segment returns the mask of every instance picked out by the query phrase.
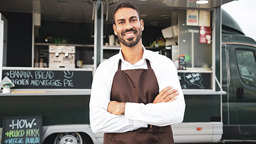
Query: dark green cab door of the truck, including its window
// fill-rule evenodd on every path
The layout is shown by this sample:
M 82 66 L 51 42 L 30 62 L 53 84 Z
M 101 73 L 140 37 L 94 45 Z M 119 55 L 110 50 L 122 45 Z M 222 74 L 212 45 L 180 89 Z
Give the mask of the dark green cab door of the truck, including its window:
M 231 88 L 229 94 L 233 95 L 234 102 L 230 102 L 234 104 L 234 109 L 230 109 L 230 124 L 238 125 L 241 139 L 255 139 L 256 47 L 249 45 L 229 47 Z

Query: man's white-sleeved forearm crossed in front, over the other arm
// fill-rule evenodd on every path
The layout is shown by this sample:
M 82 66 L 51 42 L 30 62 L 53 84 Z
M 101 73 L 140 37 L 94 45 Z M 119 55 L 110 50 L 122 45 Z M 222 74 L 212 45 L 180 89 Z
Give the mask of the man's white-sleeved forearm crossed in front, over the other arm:
M 130 103 L 125 105 L 125 117 L 135 121 L 156 126 L 181 123 L 185 110 L 185 102 L 180 97 L 172 102 Z

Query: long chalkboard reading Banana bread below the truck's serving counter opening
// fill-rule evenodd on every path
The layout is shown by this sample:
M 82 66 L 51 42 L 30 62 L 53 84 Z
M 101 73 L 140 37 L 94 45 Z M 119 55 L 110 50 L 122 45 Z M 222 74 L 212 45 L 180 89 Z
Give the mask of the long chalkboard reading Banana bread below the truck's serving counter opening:
M 92 71 L 3 70 L 14 89 L 91 89 Z

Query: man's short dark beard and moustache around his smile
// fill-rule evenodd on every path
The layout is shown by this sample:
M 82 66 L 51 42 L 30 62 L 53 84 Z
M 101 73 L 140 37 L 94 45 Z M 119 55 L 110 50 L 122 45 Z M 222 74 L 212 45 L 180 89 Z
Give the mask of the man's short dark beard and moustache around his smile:
M 135 34 L 135 36 L 134 37 L 131 37 L 131 38 L 127 38 L 127 40 L 124 38 L 124 33 L 127 33 L 127 32 L 129 32 L 129 31 L 133 31 Z M 124 30 L 123 32 L 122 32 L 122 34 L 120 34 L 120 33 L 117 33 L 117 37 L 118 37 L 118 39 L 119 39 L 119 41 L 123 44 L 123 45 L 125 45 L 125 46 L 127 46 L 127 47 L 132 47 L 132 46 L 134 46 L 134 45 L 137 45 L 138 44 L 138 42 L 140 41 L 140 39 L 141 39 L 141 36 L 142 36 L 142 30 L 141 30 L 141 28 L 139 28 L 139 31 L 137 31 L 136 29 L 134 29 L 134 28 L 131 28 L 131 29 L 129 29 L 129 30 Z

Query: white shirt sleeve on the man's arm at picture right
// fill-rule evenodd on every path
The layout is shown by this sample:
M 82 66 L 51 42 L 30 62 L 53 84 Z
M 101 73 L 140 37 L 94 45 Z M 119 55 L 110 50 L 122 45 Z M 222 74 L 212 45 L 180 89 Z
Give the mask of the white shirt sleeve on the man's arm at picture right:
M 161 103 L 131 103 L 126 102 L 125 117 L 131 120 L 142 121 L 151 125 L 165 126 L 178 124 L 183 121 L 185 113 L 185 100 L 180 86 L 177 69 L 170 59 L 165 59 L 158 67 L 159 91 L 167 86 L 178 89 L 178 99 L 172 102 Z

